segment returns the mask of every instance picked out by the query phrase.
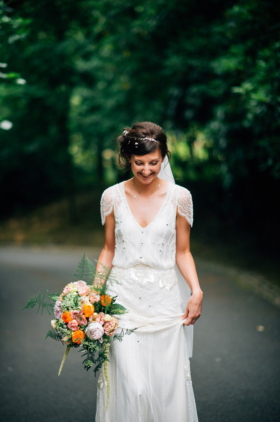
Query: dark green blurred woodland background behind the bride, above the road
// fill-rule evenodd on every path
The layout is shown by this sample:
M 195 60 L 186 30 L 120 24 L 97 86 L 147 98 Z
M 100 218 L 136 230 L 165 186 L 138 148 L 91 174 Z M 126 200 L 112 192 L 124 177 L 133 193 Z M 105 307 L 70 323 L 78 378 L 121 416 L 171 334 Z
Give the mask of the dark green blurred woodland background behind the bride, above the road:
M 192 192 L 197 252 L 278 279 L 277 2 L 0 5 L 0 241 L 101 243 L 101 192 L 128 177 L 114 140 L 147 120 Z

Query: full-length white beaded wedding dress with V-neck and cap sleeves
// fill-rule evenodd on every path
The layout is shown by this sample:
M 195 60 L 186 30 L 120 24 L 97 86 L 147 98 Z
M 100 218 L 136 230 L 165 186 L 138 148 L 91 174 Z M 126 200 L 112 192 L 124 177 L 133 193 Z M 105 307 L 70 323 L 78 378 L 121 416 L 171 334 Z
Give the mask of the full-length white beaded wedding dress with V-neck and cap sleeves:
M 169 183 L 160 211 L 143 228 L 130 211 L 122 182 L 102 195 L 102 224 L 113 208 L 116 246 L 108 291 L 129 310 L 120 316 L 118 330 L 140 328 L 111 343 L 109 407 L 106 411 L 101 371 L 96 422 L 197 422 L 174 270 L 176 208 L 192 225 L 192 197 L 187 189 Z

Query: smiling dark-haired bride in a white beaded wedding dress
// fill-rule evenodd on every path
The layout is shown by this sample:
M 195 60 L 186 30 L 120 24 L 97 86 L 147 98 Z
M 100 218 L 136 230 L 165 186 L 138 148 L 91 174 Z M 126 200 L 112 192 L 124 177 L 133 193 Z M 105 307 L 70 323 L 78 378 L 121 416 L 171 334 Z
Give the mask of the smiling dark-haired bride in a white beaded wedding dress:
M 200 317 L 203 296 L 189 250 L 192 197 L 187 189 L 158 177 L 170 156 L 160 126 L 136 123 L 117 140 L 119 160 L 131 166 L 133 178 L 102 195 L 105 243 L 99 262 L 112 268 L 108 294 L 117 295 L 129 310 L 120 317 L 119 329 L 139 328 L 110 346 L 109 408 L 101 372 L 96 421 L 195 422 L 183 329 Z M 175 259 L 192 291 L 185 312 Z

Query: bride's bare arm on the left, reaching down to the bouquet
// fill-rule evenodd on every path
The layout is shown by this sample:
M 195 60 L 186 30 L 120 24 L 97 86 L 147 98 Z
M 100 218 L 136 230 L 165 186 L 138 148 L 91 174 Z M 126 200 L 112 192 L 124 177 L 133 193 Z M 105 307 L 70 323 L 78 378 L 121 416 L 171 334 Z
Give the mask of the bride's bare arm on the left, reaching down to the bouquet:
M 96 265 L 96 273 L 99 273 L 99 271 L 102 272 L 103 268 L 102 265 L 105 265 L 105 267 L 112 268 L 112 261 L 115 254 L 115 216 L 114 211 L 112 211 L 111 214 L 107 215 L 105 220 L 105 241 L 104 246 L 101 251 L 101 254 L 99 255 L 98 262 Z M 99 262 L 101 264 L 99 264 Z M 102 280 L 102 283 L 105 283 L 105 279 Z

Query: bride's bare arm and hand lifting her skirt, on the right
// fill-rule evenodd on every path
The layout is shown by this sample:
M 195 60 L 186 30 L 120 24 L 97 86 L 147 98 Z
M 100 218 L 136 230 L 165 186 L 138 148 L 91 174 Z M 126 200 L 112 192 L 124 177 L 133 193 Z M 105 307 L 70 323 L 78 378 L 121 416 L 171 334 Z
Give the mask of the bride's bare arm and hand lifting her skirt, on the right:
M 194 324 L 202 310 L 203 292 L 200 289 L 195 262 L 189 247 L 190 225 L 184 216 L 177 213 L 176 217 L 176 263 L 182 276 L 192 291 L 183 319 L 185 325 Z

